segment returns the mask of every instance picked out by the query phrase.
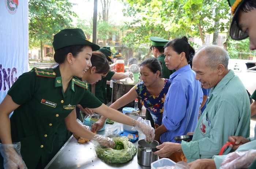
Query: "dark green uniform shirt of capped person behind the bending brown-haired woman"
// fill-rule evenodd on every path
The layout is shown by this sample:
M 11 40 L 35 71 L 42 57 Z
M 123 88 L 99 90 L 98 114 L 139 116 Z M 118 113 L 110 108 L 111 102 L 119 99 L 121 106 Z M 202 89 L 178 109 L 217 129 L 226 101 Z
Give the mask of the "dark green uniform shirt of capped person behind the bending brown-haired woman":
M 107 82 L 107 80 L 111 80 L 111 78 L 113 77 L 114 74 L 115 74 L 115 72 L 109 71 L 108 74 L 104 78 L 102 78 L 95 84 L 95 96 L 104 104 L 108 103 L 106 82 Z M 90 84 L 88 86 L 88 89 L 91 90 Z

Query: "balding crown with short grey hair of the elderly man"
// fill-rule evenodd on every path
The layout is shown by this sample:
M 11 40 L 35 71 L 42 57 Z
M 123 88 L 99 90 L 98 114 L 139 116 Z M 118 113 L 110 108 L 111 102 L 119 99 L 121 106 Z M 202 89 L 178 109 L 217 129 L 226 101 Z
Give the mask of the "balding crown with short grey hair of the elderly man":
M 216 68 L 218 64 L 223 64 L 225 69 L 227 69 L 227 65 L 229 64 L 229 54 L 227 54 L 227 51 L 216 45 L 205 45 L 200 47 L 196 51 L 194 59 L 205 60 L 205 66 L 212 69 Z

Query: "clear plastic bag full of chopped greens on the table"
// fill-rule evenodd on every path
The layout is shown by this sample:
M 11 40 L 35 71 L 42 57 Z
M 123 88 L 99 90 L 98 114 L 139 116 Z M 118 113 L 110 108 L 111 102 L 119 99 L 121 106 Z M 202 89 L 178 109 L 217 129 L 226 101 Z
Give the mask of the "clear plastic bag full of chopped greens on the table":
M 109 163 L 125 163 L 133 158 L 137 152 L 137 148 L 127 137 L 113 137 L 116 146 L 114 149 L 94 145 L 99 159 Z

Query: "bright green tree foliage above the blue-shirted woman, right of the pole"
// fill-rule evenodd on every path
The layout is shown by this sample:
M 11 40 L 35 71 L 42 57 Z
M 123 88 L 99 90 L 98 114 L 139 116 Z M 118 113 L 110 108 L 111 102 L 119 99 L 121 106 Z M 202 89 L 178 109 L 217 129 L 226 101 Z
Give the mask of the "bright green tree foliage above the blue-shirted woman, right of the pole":
M 137 45 L 149 42 L 149 36 L 161 36 L 166 39 L 182 36 L 200 37 L 216 29 L 227 30 L 230 16 L 226 0 L 123 0 L 129 5 L 125 15 L 135 17 L 127 28 L 132 29 L 126 39 L 135 39 Z M 214 25 L 215 21 L 219 24 Z M 214 27 L 215 26 L 215 27 Z M 128 44 L 129 45 L 129 44 Z

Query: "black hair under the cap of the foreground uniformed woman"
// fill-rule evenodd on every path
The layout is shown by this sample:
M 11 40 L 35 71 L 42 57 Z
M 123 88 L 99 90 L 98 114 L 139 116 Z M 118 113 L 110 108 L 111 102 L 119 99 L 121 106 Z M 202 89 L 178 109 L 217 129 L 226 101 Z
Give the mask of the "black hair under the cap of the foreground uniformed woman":
M 82 52 L 86 45 L 74 45 L 74 46 L 67 46 L 64 48 L 60 48 L 54 53 L 54 60 L 56 63 L 64 63 L 67 54 L 71 53 L 74 57 L 76 57 L 79 52 Z

